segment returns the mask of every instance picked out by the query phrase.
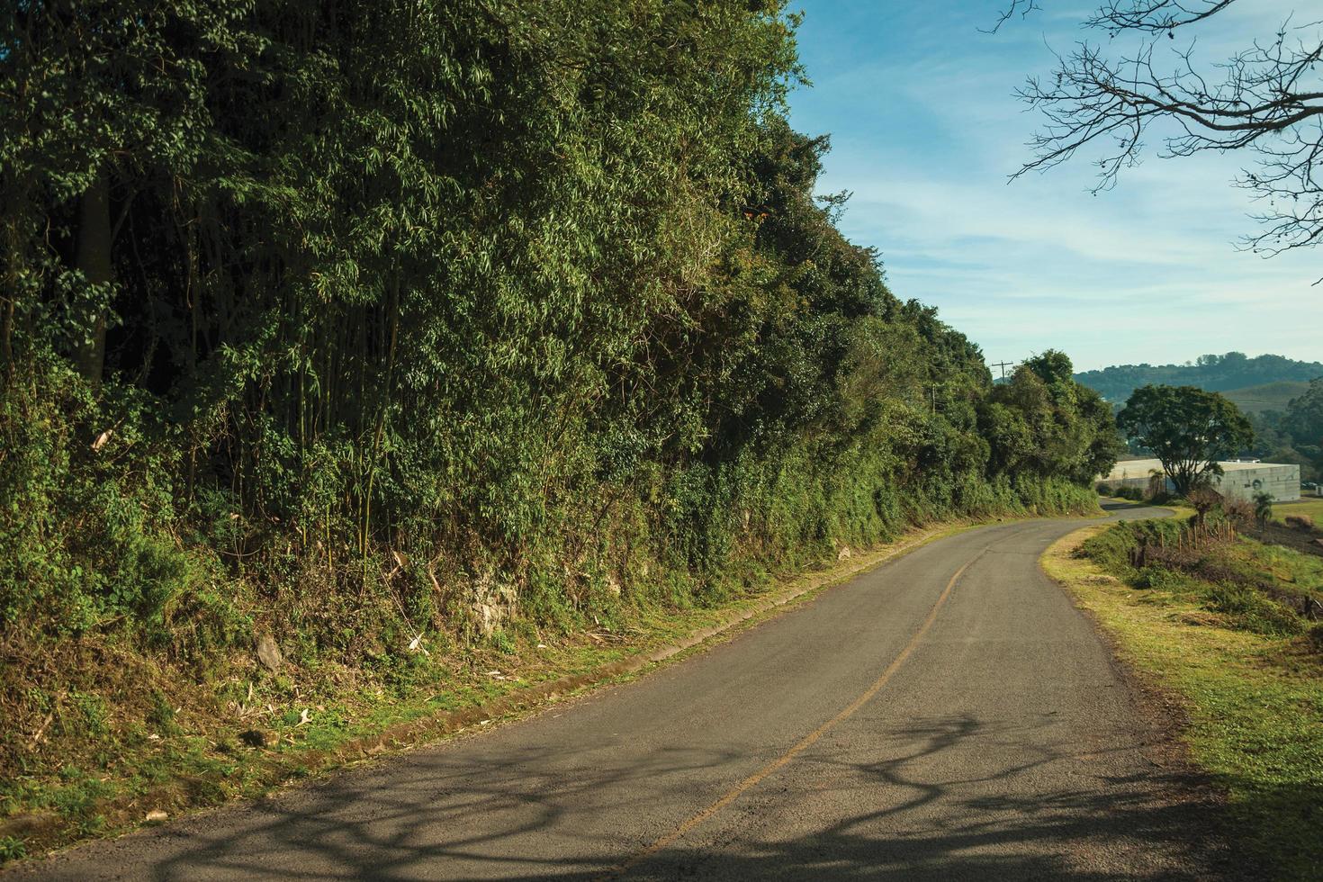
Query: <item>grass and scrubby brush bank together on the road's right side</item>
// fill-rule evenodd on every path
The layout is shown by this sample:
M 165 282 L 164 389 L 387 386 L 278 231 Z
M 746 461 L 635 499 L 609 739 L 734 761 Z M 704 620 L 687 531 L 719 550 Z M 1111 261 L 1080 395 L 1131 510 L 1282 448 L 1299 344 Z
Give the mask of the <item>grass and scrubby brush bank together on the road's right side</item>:
M 1044 566 L 1122 659 L 1177 698 L 1191 758 L 1226 792 L 1246 862 L 1315 879 L 1323 558 L 1246 538 L 1253 509 L 1229 509 L 1090 528 L 1053 546 Z

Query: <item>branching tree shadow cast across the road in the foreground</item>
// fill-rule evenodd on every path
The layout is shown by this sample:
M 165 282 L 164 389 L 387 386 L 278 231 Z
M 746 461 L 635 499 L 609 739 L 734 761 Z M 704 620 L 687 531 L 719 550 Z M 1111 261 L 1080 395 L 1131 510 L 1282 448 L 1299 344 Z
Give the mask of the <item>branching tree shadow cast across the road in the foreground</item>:
M 1044 788 L 1035 782 L 1049 772 L 1053 780 L 1062 778 L 1062 763 L 1073 768 L 1070 763 L 1098 756 L 1045 750 L 1033 729 L 934 718 L 889 731 L 886 738 L 906 748 L 885 758 L 861 760 L 848 750 L 803 755 L 673 845 L 628 867 L 622 863 L 738 780 L 734 774 L 714 776 L 713 768 L 742 770 L 750 759 L 755 766 L 766 759 L 683 747 L 619 766 L 573 746 L 415 754 L 242 812 L 159 830 L 156 837 L 167 840 L 172 854 L 130 874 L 157 879 L 1253 878 L 1250 871 L 1226 873 L 1220 805 L 1203 780 L 1180 768 L 1151 767 L 1119 776 L 1081 774 L 1076 787 Z M 950 774 L 949 764 L 934 764 L 942 754 L 975 751 L 970 754 L 975 756 L 992 744 L 1013 759 L 960 775 Z M 1130 743 L 1110 750 L 1143 748 Z M 774 755 L 769 748 L 767 759 Z M 841 799 L 847 793 L 852 796 Z M 820 815 L 819 805 L 826 807 Z M 804 812 L 811 816 L 807 821 Z M 102 848 L 114 850 L 127 841 Z

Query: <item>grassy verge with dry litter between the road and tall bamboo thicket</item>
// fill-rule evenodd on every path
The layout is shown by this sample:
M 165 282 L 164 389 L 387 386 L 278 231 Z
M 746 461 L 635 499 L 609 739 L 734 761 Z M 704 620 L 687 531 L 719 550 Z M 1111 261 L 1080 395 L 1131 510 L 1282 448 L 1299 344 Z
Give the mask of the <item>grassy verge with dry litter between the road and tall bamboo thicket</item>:
M 349 670 L 286 665 L 271 673 L 237 657 L 229 682 L 205 684 L 209 694 L 232 696 L 217 705 L 201 701 L 201 689 L 172 688 L 168 676 L 142 660 L 110 657 L 108 644 L 82 645 L 79 656 L 105 653 L 103 665 L 119 665 L 118 688 L 144 692 L 155 710 L 147 726 L 116 726 L 105 698 L 91 692 L 66 696 L 61 706 L 75 710 L 65 710 L 71 719 L 60 725 L 82 726 L 85 750 L 60 766 L 19 770 L 0 782 L 0 862 L 259 796 L 386 751 L 525 717 L 684 657 L 705 641 L 733 636 L 779 608 L 978 524 L 912 530 L 897 542 L 767 582 L 720 607 L 654 607 L 610 628 L 560 637 L 512 628 L 483 644 L 452 645 L 441 665 L 442 680 L 407 694 L 381 685 L 355 689 Z M 50 664 L 93 661 L 62 657 Z

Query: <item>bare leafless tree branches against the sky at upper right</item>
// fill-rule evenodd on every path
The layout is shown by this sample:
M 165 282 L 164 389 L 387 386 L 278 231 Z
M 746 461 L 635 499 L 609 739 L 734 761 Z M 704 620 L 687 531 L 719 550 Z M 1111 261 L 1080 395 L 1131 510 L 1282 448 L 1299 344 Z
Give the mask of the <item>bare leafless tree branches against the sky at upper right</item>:
M 1037 8 L 1037 0 L 1009 3 L 996 28 Z M 1113 57 L 1084 40 L 1057 56 L 1052 77 L 1028 79 L 1017 94 L 1044 124 L 1029 143 L 1033 159 L 1013 177 L 1101 148 L 1095 192 L 1109 189 L 1139 160 L 1150 126 L 1162 124 L 1162 156 L 1256 155 L 1236 181 L 1263 206 L 1246 247 L 1278 254 L 1323 241 L 1323 26 L 1289 17 L 1270 40 L 1196 62 L 1197 25 L 1234 3 L 1103 0 L 1085 26 L 1130 49 Z

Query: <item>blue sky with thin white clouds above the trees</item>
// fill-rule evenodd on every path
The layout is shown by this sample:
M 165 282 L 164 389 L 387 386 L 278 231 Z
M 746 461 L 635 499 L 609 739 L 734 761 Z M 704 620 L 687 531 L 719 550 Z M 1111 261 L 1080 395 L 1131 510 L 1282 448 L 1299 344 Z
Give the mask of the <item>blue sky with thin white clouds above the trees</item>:
M 1270 36 L 1293 7 L 1254 0 L 1199 32 L 1196 58 Z M 1093 4 L 1043 0 L 990 26 L 1000 0 L 800 0 L 812 87 L 791 122 L 831 134 L 822 192 L 881 251 L 892 290 L 938 307 L 990 362 L 1048 348 L 1078 370 L 1232 349 L 1323 360 L 1323 247 L 1270 261 L 1237 250 L 1253 204 L 1230 185 L 1245 155 L 1159 159 L 1156 143 L 1098 196 L 1088 156 L 1008 184 L 1037 118 L 1012 95 L 1085 34 Z M 1095 36 L 1090 36 L 1094 41 Z M 1150 139 L 1152 141 L 1152 139 Z

